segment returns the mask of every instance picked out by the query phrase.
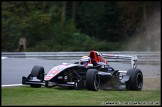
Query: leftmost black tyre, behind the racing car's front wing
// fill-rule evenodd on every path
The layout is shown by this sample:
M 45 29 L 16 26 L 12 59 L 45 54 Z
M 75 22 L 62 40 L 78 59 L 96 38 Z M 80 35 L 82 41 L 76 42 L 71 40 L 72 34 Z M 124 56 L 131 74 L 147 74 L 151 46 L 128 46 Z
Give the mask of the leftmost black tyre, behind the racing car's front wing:
M 32 77 L 37 77 L 37 79 L 44 80 L 44 68 L 42 66 L 35 65 L 31 71 Z

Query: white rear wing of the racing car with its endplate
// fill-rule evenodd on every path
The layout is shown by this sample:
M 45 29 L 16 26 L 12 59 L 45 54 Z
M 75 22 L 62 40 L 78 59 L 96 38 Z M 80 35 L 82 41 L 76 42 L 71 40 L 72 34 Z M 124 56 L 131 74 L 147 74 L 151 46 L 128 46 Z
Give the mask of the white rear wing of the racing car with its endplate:
M 119 55 L 119 54 L 102 54 L 104 58 L 108 59 L 127 59 L 131 60 L 132 68 L 137 68 L 137 56 L 136 55 Z

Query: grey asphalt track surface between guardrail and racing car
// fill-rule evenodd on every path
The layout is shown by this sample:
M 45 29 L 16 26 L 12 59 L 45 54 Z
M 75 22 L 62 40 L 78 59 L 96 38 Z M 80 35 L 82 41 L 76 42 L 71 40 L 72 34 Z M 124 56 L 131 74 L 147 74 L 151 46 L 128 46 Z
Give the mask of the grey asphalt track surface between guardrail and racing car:
M 79 59 L 78 59 L 79 60 Z M 65 63 L 74 63 L 73 60 L 47 60 L 40 58 L 5 58 L 1 59 L 1 85 L 21 84 L 22 76 L 28 76 L 34 65 L 41 65 L 47 73 L 53 66 Z M 113 68 L 128 70 L 130 62 L 109 62 Z M 138 63 L 144 77 L 160 77 L 161 65 L 159 63 Z

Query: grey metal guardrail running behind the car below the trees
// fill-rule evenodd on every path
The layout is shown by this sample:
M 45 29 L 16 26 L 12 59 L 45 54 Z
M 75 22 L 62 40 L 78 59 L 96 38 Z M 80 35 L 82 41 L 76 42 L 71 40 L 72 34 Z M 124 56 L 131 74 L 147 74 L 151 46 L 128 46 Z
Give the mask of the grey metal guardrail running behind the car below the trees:
M 160 52 L 113 51 L 113 52 L 100 52 L 100 53 L 137 55 L 138 61 L 161 62 Z M 88 54 L 89 52 L 2 52 L 1 56 L 9 57 L 9 58 L 78 59 Z M 116 60 L 112 59 L 111 61 L 116 61 Z

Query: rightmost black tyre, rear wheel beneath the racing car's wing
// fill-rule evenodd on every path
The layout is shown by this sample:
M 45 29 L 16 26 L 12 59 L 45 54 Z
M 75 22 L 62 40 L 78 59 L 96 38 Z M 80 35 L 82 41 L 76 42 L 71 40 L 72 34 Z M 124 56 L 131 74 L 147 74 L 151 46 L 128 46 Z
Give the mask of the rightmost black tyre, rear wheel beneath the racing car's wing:
M 129 69 L 127 75 L 130 75 L 130 79 L 126 82 L 126 88 L 128 90 L 142 90 L 143 87 L 143 74 L 140 69 Z

